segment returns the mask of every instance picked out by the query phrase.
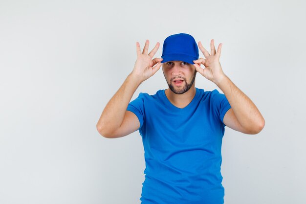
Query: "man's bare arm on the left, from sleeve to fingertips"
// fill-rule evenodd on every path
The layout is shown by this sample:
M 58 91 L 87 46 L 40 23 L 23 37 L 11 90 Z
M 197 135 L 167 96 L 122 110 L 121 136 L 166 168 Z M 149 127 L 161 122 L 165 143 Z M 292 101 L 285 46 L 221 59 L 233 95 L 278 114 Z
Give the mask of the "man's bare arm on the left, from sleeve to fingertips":
M 109 100 L 104 108 L 100 119 L 96 125 L 98 132 L 105 137 L 118 137 L 131 133 L 135 127 L 131 117 L 135 117 L 133 113 L 126 114 L 131 97 L 138 86 L 151 76 L 161 67 L 162 58 L 152 57 L 156 53 L 159 43 L 155 45 L 153 50 L 148 54 L 149 40 L 146 41 L 143 52 L 140 51 L 140 45 L 136 42 L 137 60 L 133 71 L 128 75 L 119 90 Z M 155 67 L 153 67 L 156 65 Z M 123 124 L 123 125 L 122 125 Z

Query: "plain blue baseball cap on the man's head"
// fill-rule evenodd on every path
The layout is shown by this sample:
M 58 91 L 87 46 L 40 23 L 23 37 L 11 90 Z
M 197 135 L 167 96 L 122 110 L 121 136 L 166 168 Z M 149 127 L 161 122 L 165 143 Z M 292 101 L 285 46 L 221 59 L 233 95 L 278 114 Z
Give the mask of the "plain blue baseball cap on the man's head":
M 161 63 L 183 61 L 195 64 L 193 60 L 198 59 L 198 48 L 194 37 L 187 33 L 178 33 L 167 37 L 164 41 L 161 58 L 163 58 Z

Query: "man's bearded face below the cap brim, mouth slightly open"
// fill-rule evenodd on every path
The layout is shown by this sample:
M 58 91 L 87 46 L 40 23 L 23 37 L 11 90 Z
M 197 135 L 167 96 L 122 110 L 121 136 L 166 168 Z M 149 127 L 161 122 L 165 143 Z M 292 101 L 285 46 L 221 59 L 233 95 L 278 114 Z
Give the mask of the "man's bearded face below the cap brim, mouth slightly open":
M 162 65 L 163 73 L 171 91 L 182 94 L 195 82 L 196 67 L 183 61 L 168 61 Z M 179 80 L 182 80 L 179 82 Z

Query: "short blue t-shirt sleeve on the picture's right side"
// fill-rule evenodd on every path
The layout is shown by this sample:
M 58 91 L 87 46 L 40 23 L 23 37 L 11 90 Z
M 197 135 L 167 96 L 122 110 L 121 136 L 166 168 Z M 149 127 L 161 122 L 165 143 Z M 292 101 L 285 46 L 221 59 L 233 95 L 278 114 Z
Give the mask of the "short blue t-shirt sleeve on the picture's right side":
M 231 105 L 229 104 L 227 98 L 225 97 L 225 94 L 220 93 L 217 89 L 212 91 L 212 98 L 214 100 L 216 107 L 215 111 L 219 116 L 219 119 L 222 122 L 223 126 L 225 126 L 225 124 L 223 123 L 223 118 L 225 113 L 231 108 Z

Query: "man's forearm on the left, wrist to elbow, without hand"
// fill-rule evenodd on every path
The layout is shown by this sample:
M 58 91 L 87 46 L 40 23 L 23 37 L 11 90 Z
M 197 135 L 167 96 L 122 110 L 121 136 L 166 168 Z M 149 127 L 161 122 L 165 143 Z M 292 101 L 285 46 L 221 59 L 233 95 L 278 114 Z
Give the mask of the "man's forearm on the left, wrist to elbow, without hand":
M 100 116 L 96 126 L 101 134 L 110 134 L 120 127 L 131 97 L 140 84 L 141 82 L 132 73 L 128 75 L 119 90 L 109 100 Z

